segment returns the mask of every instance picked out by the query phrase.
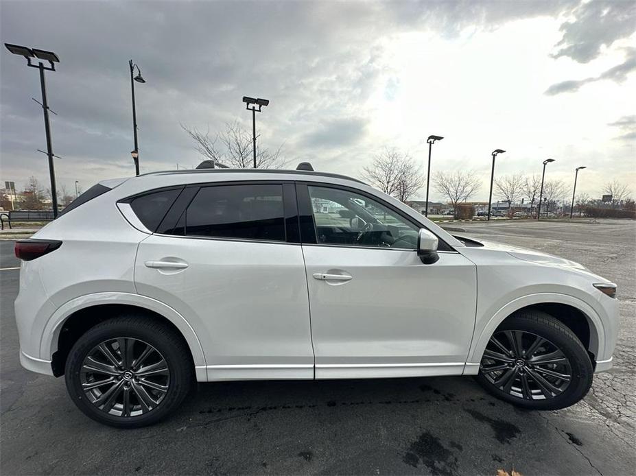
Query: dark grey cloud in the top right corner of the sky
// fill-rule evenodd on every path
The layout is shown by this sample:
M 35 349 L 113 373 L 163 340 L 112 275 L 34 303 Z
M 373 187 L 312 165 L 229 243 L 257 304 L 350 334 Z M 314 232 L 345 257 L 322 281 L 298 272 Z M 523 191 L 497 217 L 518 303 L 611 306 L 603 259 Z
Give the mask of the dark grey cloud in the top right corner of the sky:
M 556 44 L 554 58 L 567 56 L 580 63 L 597 58 L 602 47 L 636 31 L 636 2 L 593 0 L 580 3 L 572 11 L 573 21 L 561 25 L 563 38 Z

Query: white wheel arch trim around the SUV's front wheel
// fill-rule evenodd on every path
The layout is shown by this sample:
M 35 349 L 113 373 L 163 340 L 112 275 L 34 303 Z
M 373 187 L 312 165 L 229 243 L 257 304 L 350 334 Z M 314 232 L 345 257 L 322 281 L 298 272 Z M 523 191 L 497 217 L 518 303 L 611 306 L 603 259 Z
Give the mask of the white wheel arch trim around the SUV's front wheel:
M 473 337 L 473 342 L 471 343 L 466 368 L 464 368 L 464 374 L 478 373 L 480 361 L 484 354 L 484 350 L 486 349 L 486 344 L 488 344 L 488 340 L 490 340 L 491 335 L 493 335 L 495 329 L 497 329 L 504 319 L 515 311 L 519 311 L 519 309 L 522 309 L 523 307 L 543 304 L 545 302 L 565 304 L 575 307 L 581 311 L 589 324 L 589 350 L 598 357 L 605 355 L 605 329 L 602 319 L 598 316 L 598 313 L 587 304 L 587 302 L 567 294 L 528 294 L 508 302 L 508 304 L 501 307 L 484 326 L 480 329 L 475 329 L 475 337 Z

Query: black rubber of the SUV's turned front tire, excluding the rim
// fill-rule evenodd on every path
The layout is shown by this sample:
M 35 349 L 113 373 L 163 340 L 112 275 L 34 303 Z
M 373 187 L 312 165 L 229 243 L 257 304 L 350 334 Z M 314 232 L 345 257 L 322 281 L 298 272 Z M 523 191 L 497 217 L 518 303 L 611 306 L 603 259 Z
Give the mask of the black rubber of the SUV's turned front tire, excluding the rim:
M 545 400 L 526 400 L 499 390 L 481 370 L 476 377 L 478 382 L 493 396 L 501 398 L 519 407 L 537 410 L 554 410 L 569 407 L 580 401 L 591 387 L 593 367 L 587 350 L 576 335 L 561 322 L 545 313 L 530 313 L 508 318 L 497 328 L 498 331 L 525 331 L 539 335 L 557 346 L 569 360 L 572 368 L 572 381 L 560 395 Z

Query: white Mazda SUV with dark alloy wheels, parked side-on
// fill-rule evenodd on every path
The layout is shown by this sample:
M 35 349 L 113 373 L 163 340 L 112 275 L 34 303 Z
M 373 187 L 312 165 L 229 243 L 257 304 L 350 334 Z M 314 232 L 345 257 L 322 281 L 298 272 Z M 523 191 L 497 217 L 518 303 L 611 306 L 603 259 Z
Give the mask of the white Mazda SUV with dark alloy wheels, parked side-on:
M 195 380 L 475 375 L 557 409 L 617 335 L 616 286 L 585 267 L 314 171 L 108 180 L 16 255 L 22 365 L 117 427 L 163 418 Z

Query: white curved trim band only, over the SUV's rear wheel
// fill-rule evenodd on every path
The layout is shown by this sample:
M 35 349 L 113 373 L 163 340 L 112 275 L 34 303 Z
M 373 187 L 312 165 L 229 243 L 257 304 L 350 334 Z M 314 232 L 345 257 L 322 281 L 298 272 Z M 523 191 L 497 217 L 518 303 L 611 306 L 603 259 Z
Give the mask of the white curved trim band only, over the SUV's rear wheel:
M 148 309 L 148 311 L 156 312 L 172 322 L 188 344 L 196 368 L 197 380 L 205 381 L 207 379 L 203 348 L 194 329 L 192 329 L 187 320 L 185 320 L 180 313 L 172 309 L 172 307 L 163 304 L 163 302 L 148 298 L 147 296 L 124 292 L 86 294 L 65 302 L 53 313 L 43 329 L 42 337 L 40 338 L 40 357 L 43 359 L 51 359 L 54 352 L 58 350 L 58 338 L 62 324 L 64 324 L 64 321 L 66 321 L 71 314 L 80 311 L 80 309 L 104 304 L 130 305 Z

